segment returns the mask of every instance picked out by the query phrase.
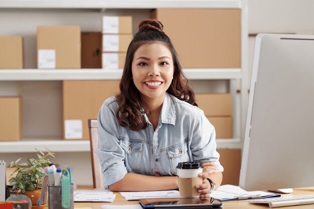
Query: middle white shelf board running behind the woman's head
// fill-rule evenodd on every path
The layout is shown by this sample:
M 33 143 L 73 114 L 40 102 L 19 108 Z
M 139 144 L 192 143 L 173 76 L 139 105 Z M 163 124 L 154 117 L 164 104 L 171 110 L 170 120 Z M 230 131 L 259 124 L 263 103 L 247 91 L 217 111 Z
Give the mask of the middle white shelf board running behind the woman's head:
M 240 79 L 239 68 L 184 69 L 189 79 Z M 111 80 L 122 69 L 0 69 L 0 80 Z

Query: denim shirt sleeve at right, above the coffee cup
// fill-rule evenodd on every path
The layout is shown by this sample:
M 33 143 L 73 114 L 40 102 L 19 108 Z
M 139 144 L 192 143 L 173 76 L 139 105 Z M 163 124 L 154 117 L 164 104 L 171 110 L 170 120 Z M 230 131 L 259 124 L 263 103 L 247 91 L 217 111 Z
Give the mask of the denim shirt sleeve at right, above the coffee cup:
M 219 153 L 217 152 L 215 127 L 208 121 L 203 110 L 200 110 L 198 121 L 193 129 L 191 142 L 191 151 L 193 160 L 211 161 L 223 171 L 224 168 L 219 162 Z

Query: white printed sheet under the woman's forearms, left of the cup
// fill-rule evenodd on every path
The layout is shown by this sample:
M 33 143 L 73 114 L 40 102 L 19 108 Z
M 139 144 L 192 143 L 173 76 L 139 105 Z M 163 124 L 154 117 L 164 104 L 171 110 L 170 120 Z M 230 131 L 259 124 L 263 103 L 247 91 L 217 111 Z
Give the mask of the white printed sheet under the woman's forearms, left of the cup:
M 178 190 L 166 191 L 134 191 L 134 192 L 120 192 L 126 200 L 137 200 L 144 198 L 179 198 L 180 192 Z

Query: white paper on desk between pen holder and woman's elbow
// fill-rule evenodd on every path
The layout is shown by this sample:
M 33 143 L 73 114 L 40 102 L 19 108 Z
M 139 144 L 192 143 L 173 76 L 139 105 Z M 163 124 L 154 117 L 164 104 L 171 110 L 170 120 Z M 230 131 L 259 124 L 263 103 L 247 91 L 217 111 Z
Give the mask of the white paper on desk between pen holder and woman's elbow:
M 113 202 L 115 194 L 111 190 L 75 190 L 74 201 Z

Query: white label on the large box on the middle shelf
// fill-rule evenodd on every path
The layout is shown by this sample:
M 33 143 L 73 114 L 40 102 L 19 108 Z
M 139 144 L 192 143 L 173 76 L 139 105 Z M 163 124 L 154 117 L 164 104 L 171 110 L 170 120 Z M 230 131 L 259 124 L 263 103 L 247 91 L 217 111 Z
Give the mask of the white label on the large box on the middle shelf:
M 66 119 L 64 121 L 66 139 L 77 139 L 83 137 L 83 122 L 81 119 Z

